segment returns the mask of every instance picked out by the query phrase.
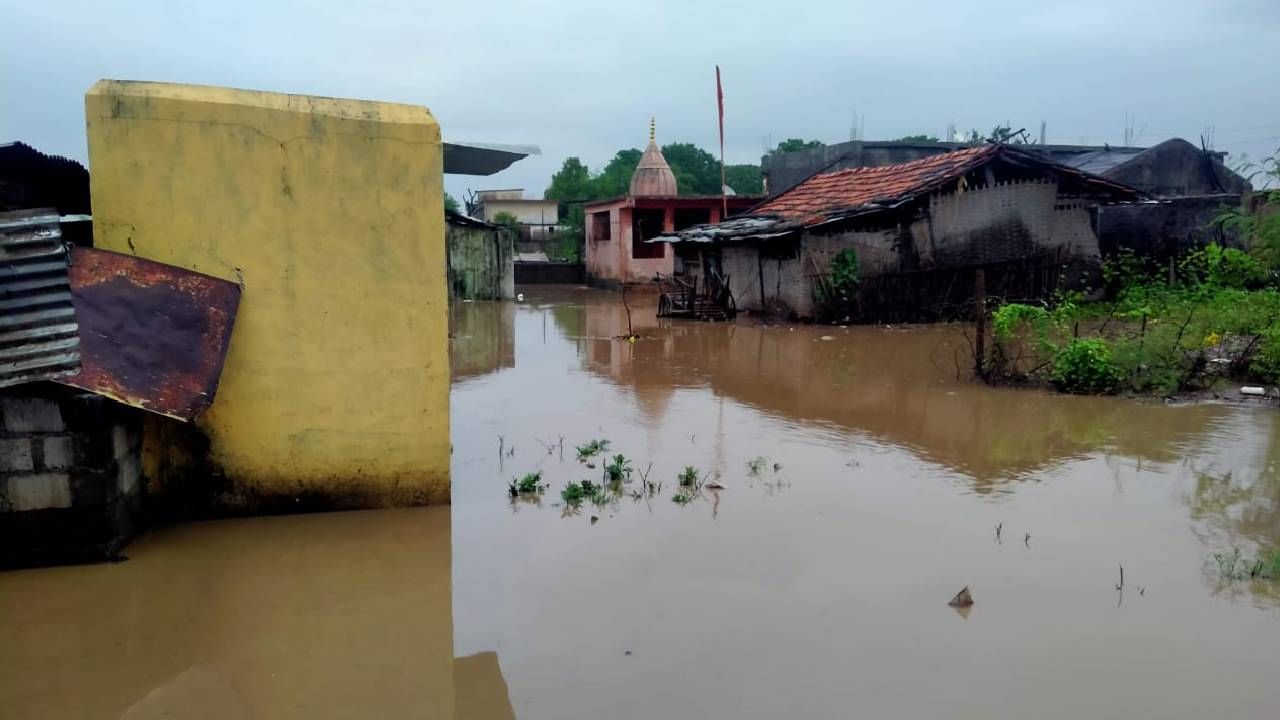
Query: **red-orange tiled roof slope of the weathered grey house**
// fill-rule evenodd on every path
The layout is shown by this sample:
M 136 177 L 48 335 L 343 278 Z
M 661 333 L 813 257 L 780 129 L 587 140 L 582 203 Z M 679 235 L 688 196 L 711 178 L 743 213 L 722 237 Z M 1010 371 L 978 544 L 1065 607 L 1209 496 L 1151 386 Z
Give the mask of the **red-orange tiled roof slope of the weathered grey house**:
M 814 223 L 837 210 L 855 210 L 877 201 L 895 201 L 932 190 L 982 165 L 1000 154 L 1001 149 L 1000 145 L 983 145 L 897 165 L 852 168 L 813 176 L 755 208 L 751 214 Z

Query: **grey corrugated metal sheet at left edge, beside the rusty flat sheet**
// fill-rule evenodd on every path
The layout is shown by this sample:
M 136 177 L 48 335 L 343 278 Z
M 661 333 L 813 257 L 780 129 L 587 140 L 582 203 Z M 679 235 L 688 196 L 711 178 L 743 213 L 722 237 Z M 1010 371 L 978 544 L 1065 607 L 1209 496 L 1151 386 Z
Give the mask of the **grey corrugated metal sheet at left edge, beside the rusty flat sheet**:
M 0 387 L 81 370 L 58 210 L 0 213 Z

